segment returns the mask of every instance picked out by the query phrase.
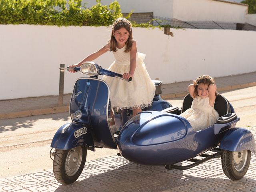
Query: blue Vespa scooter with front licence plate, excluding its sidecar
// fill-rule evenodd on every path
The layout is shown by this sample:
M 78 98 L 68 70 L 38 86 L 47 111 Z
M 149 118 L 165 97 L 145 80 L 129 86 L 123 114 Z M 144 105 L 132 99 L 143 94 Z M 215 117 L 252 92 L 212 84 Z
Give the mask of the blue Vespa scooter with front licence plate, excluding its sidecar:
M 86 162 L 86 150 L 117 149 L 115 132 L 121 130 L 132 117 L 131 110 L 117 108 L 114 109 L 114 116 L 110 116 L 109 87 L 106 82 L 98 79 L 99 75 L 107 75 L 125 80 L 121 74 L 104 70 L 94 62 L 84 62 L 74 70 L 90 77 L 76 80 L 70 100 L 72 122 L 61 126 L 52 139 L 51 147 L 55 149 L 50 152 L 51 158 L 54 157 L 53 172 L 56 180 L 62 184 L 70 184 L 80 176 Z M 160 97 L 162 82 L 154 82 L 156 93 L 152 106 L 143 110 L 161 111 L 172 107 Z M 112 119 L 116 130 L 110 129 Z

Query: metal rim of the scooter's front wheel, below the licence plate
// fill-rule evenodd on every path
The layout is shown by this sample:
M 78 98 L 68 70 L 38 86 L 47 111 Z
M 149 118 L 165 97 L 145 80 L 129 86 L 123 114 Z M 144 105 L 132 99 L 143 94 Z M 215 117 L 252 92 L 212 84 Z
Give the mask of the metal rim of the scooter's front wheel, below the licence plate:
M 72 148 L 68 151 L 65 163 L 65 170 L 68 176 L 74 176 L 81 165 L 82 162 L 82 147 Z

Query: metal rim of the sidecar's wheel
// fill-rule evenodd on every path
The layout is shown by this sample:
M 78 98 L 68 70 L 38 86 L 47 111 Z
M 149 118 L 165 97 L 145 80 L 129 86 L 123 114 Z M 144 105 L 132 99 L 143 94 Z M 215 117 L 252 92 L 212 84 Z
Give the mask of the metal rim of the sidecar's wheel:
M 244 169 L 247 161 L 248 151 L 235 151 L 233 152 L 233 164 L 234 168 L 239 172 Z

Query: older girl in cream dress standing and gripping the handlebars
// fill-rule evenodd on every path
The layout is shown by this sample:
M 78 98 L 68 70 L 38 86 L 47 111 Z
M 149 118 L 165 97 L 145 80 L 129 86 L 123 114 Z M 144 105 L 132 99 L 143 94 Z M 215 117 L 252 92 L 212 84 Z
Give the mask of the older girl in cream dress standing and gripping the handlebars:
M 104 47 L 69 67 L 79 67 L 83 62 L 95 60 L 108 51 L 112 51 L 115 57 L 115 61 L 108 70 L 122 74 L 126 80 L 132 77 L 132 81 L 128 83 L 118 78 L 103 76 L 102 80 L 106 81 L 110 87 L 111 107 L 132 109 L 134 116 L 144 107 L 151 105 L 155 85 L 143 62 L 145 54 L 137 52 L 136 41 L 132 38 L 132 25 L 127 19 L 118 18 L 114 22 L 111 38 Z

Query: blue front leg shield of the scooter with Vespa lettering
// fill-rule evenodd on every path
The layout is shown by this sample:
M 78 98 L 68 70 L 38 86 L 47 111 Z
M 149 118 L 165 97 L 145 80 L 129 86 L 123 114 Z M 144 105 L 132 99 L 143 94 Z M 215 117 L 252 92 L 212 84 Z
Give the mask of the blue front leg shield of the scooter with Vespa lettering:
M 96 78 L 78 79 L 70 102 L 72 120 L 90 126 L 95 146 L 116 149 L 107 122 L 109 113 L 109 88 L 106 82 Z

